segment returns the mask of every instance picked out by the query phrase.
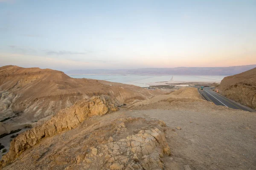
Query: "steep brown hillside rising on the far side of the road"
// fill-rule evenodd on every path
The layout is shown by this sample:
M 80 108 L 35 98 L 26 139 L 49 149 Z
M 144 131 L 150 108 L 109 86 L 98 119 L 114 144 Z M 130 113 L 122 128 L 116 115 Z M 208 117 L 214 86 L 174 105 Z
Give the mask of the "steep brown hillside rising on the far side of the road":
M 225 77 L 218 89 L 224 96 L 256 109 L 256 68 Z

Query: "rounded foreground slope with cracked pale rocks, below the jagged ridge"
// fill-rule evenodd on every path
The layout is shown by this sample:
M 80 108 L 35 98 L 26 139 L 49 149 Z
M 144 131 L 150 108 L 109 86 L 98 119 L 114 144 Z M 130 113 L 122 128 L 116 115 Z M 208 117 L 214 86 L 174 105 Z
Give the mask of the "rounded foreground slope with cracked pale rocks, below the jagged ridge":
M 164 161 L 171 155 L 166 128 L 157 120 L 94 117 L 39 141 L 3 169 L 165 169 Z

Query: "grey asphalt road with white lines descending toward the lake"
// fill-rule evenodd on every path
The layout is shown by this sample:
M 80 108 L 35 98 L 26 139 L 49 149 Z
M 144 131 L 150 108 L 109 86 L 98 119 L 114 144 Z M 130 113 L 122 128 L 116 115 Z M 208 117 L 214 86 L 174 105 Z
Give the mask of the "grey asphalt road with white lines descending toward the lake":
M 250 108 L 243 106 L 237 102 L 234 102 L 227 97 L 221 96 L 220 94 L 212 91 L 211 88 L 204 88 L 204 90 L 200 90 L 199 92 L 204 96 L 205 99 L 209 102 L 213 102 L 215 105 L 226 106 L 233 109 L 241 109 L 244 111 L 252 111 Z

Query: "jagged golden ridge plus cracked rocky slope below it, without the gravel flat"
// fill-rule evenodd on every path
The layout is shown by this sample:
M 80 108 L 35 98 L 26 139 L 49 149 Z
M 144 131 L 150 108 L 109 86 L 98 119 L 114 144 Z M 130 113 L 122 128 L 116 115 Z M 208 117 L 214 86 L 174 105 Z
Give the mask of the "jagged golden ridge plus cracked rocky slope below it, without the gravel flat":
M 164 157 L 171 154 L 163 121 L 126 116 L 85 121 L 116 111 L 113 103 L 108 96 L 92 97 L 60 111 L 17 136 L 0 166 L 17 170 L 163 169 Z

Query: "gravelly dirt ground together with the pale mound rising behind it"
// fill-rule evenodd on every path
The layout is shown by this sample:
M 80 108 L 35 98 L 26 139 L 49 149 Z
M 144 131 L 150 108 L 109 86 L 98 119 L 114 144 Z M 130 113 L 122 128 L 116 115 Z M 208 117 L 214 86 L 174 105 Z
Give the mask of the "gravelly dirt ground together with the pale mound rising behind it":
M 170 169 L 188 164 L 192 170 L 256 170 L 256 113 L 214 105 L 195 88 L 136 102 L 115 114 L 163 120 L 172 129 L 166 131 Z

